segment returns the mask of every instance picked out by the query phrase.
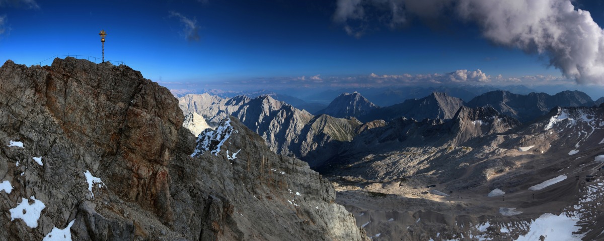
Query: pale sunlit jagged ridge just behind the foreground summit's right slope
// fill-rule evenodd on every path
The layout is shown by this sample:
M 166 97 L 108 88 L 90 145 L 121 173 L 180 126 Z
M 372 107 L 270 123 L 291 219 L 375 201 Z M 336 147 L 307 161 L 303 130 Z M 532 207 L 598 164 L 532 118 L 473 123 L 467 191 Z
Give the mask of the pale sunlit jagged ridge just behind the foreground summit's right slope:
M 205 94 L 187 95 L 179 99 L 179 106 L 185 113 L 197 110 L 210 121 L 216 121 L 228 114 L 233 115 L 239 118 L 243 125 L 260 134 L 272 151 L 309 161 L 310 166 L 321 162 L 316 160 L 317 156 L 313 154 L 317 152 L 317 148 L 325 147 L 328 151 L 335 151 L 334 148 L 339 142 L 350 141 L 360 133 L 361 123 L 356 119 L 313 116 L 285 102 L 276 101 L 271 96 L 255 99 L 236 96 L 219 101 L 216 99 Z M 205 108 L 219 111 L 203 111 Z M 216 115 L 211 116 L 212 114 Z M 367 127 L 364 130 L 367 130 Z M 333 144 L 335 146 L 329 146 L 332 142 L 337 143 Z

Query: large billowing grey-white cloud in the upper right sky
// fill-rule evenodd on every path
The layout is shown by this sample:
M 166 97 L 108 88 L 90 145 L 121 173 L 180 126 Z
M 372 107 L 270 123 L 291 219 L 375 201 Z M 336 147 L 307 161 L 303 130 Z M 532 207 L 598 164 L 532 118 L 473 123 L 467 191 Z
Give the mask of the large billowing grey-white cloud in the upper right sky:
M 543 55 L 579 84 L 604 84 L 603 30 L 568 0 L 338 0 L 333 20 L 361 37 L 375 15 L 368 11 L 390 28 L 413 18 L 475 23 L 487 40 Z

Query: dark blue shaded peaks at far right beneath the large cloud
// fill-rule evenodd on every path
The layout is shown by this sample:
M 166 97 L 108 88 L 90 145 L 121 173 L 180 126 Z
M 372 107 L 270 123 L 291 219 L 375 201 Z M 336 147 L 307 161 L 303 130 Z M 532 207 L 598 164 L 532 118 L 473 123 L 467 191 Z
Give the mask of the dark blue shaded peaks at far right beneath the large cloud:
M 467 102 L 468 107 L 491 106 L 502 114 L 512 116 L 521 122 L 532 121 L 547 114 L 551 108 L 591 107 L 595 105 L 590 96 L 579 91 L 564 91 L 556 95 L 546 93 L 529 93 L 518 95 L 507 91 L 493 91 L 476 96 Z

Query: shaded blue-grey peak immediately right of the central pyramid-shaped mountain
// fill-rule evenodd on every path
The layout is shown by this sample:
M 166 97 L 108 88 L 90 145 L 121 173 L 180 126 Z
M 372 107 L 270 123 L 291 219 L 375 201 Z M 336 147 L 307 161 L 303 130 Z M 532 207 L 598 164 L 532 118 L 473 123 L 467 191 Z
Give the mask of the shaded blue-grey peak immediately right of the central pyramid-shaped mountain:
M 375 119 L 391 119 L 406 117 L 409 119 L 451 119 L 457 110 L 463 106 L 460 98 L 446 95 L 445 93 L 433 92 L 422 99 L 408 99 L 400 104 L 379 108 L 371 113 L 360 117 L 362 121 Z

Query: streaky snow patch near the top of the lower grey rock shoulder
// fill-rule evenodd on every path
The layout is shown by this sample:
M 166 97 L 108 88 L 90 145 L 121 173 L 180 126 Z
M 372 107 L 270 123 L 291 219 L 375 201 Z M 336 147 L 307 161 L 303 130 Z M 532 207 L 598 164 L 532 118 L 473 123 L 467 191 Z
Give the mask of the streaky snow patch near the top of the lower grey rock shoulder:
M 226 142 L 228 137 L 231 137 L 233 134 L 233 126 L 231 126 L 231 119 L 226 117 L 225 122 L 217 127 L 215 130 L 206 129 L 204 132 L 199 134 L 197 137 L 197 146 L 195 147 L 195 151 L 191 154 L 191 157 L 196 155 L 204 154 L 206 151 L 210 151 L 211 143 L 218 142 L 216 147 L 211 150 L 211 153 L 214 155 L 218 155 L 220 152 L 220 148 Z

